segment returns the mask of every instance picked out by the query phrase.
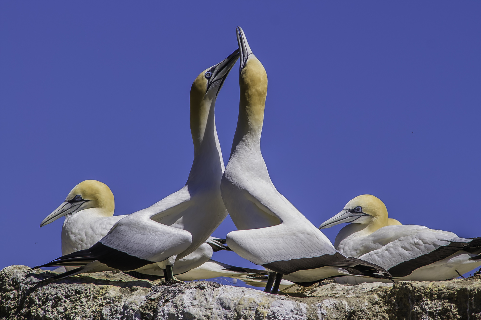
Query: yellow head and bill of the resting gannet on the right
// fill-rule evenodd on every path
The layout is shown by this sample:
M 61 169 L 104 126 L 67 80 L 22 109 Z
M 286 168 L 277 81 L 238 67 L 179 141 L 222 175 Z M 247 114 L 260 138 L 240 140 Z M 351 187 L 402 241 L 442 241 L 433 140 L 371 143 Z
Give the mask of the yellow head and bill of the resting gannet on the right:
M 386 205 L 377 197 L 363 194 L 355 197 L 344 206 L 344 209 L 320 225 L 319 229 L 329 228 L 343 222 L 365 224 L 370 232 L 388 225 L 401 224 L 389 219 Z

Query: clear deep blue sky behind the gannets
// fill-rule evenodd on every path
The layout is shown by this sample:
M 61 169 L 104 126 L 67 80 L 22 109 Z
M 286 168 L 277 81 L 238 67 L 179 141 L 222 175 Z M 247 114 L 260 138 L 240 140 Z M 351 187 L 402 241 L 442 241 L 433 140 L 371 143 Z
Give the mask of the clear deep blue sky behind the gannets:
M 235 26 L 269 79 L 270 176 L 314 225 L 370 193 L 404 224 L 481 236 L 481 3 L 258 2 L 0 2 L 0 268 L 60 255 L 63 219 L 38 225 L 82 180 L 116 215 L 185 184 L 190 85 Z M 226 164 L 238 101 L 235 66 L 216 104 Z

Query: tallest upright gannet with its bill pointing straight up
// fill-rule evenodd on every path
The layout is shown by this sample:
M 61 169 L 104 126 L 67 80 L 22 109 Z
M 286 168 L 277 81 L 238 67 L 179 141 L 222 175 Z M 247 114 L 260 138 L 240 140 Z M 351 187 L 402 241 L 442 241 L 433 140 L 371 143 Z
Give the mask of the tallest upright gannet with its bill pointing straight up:
M 222 199 L 238 229 L 228 233 L 228 246 L 254 264 L 277 272 L 274 294 L 282 275 L 303 285 L 350 274 L 384 278 L 382 268 L 342 256 L 274 187 L 260 150 L 266 70 L 240 27 L 237 39 L 241 52 L 239 118 L 221 181 Z M 266 285 L 266 292 L 269 289 Z

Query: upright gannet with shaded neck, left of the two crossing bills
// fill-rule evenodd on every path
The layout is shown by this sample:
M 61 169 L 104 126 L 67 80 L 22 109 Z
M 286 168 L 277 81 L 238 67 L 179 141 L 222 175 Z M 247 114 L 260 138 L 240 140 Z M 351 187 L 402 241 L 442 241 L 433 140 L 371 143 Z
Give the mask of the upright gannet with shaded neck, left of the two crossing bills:
M 192 84 L 190 130 L 194 160 L 186 185 L 154 205 L 120 219 L 89 249 L 40 266 L 79 267 L 42 282 L 111 269 L 142 272 L 152 264 L 165 269 L 166 280 L 173 279 L 175 260 L 196 250 L 227 216 L 220 195 L 224 164 L 214 107 L 217 94 L 238 58 L 236 50 L 204 70 Z

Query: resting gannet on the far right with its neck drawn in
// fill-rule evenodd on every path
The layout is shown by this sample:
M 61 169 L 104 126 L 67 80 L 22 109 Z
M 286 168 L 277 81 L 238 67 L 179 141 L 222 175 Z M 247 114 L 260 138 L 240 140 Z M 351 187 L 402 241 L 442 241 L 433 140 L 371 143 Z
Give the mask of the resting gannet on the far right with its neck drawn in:
M 465 239 L 449 231 L 401 225 L 388 218 L 384 203 L 370 194 L 355 197 L 319 228 L 343 222 L 351 223 L 339 231 L 335 247 L 344 256 L 383 267 L 396 281 L 452 279 L 481 266 L 481 238 Z M 344 280 L 366 282 L 353 277 Z

